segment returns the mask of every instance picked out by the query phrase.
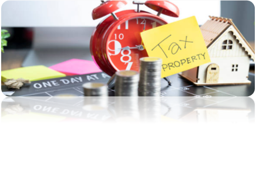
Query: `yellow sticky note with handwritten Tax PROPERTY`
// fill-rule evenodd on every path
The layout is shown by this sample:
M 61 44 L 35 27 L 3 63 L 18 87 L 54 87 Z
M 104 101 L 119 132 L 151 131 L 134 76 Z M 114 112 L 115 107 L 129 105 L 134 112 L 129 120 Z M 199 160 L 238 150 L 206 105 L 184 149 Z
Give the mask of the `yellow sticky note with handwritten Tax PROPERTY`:
M 141 35 L 147 54 L 163 59 L 162 78 L 211 62 L 195 16 Z

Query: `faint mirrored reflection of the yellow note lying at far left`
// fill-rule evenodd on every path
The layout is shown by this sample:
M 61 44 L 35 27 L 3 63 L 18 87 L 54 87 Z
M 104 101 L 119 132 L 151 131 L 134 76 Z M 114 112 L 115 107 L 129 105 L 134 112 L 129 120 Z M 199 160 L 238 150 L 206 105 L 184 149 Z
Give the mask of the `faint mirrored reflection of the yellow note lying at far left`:
M 1 113 L 1 122 L 10 123 L 10 124 L 53 124 L 55 122 L 59 122 L 65 120 L 66 117 L 56 116 L 56 115 L 48 115 L 41 113 L 29 113 L 29 114 L 5 114 L 5 112 Z

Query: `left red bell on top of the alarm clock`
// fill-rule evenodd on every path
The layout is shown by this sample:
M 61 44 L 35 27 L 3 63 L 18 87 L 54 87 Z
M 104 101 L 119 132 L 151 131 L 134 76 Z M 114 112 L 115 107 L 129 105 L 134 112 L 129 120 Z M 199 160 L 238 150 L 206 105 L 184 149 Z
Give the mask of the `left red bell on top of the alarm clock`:
M 106 15 L 117 11 L 127 5 L 126 1 L 106 1 L 102 5 L 93 9 L 92 18 L 93 20 L 103 18 Z

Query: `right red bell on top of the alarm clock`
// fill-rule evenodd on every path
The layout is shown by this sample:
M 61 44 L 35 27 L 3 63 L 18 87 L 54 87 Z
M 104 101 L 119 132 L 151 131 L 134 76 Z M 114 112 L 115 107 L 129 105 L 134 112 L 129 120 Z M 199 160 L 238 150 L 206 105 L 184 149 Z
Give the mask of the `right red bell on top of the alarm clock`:
M 180 16 L 180 10 L 176 5 L 169 1 L 146 1 L 145 5 L 150 9 L 159 12 L 157 15 L 161 14 L 171 16 L 174 18 L 178 18 Z

